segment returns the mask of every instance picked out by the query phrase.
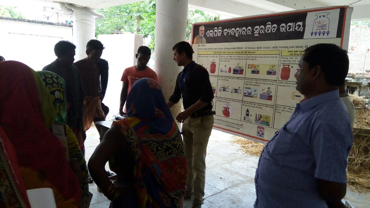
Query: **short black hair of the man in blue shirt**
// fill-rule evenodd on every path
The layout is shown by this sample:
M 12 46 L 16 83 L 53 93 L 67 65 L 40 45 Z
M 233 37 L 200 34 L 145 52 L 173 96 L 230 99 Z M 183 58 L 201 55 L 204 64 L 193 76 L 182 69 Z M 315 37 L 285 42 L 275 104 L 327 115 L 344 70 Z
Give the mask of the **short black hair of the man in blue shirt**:
M 332 43 L 319 43 L 306 48 L 306 61 L 310 68 L 318 65 L 330 85 L 342 86 L 349 69 L 347 51 Z

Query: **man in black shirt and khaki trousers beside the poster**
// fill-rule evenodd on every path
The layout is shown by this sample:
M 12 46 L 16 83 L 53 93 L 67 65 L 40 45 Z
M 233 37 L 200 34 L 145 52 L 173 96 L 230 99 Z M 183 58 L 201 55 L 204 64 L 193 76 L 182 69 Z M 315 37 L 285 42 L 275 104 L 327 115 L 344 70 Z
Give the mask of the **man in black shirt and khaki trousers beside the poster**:
M 189 176 L 185 197 L 192 198 L 193 208 L 203 204 L 205 187 L 205 158 L 209 136 L 213 127 L 213 90 L 208 71 L 193 61 L 193 49 L 182 41 L 172 48 L 178 66 L 184 66 L 176 79 L 174 93 L 168 99 L 171 108 L 180 99 L 184 111 L 176 120 L 182 124 L 184 147 L 188 159 Z

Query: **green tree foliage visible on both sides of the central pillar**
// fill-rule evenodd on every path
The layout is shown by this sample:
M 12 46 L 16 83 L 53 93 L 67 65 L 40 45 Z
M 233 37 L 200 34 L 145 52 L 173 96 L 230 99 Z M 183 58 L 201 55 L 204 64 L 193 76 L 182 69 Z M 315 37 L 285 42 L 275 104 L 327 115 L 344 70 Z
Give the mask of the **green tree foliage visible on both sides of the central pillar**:
M 96 22 L 95 36 L 99 34 L 117 34 L 122 32 L 142 34 L 144 38 L 151 37 L 148 47 L 154 51 L 155 9 L 155 0 L 99 9 L 97 12 L 104 14 L 105 19 Z M 211 16 L 200 10 L 188 9 L 186 38 L 189 39 L 190 37 L 193 23 L 218 19 L 218 16 Z

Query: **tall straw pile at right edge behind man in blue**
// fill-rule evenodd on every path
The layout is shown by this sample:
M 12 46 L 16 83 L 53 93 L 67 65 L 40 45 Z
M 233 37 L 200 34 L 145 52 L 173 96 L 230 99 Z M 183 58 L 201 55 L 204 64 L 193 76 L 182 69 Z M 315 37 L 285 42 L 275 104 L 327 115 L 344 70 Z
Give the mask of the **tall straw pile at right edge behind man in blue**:
M 353 146 L 348 158 L 348 184 L 357 192 L 370 189 L 370 101 L 350 95 L 356 110 Z

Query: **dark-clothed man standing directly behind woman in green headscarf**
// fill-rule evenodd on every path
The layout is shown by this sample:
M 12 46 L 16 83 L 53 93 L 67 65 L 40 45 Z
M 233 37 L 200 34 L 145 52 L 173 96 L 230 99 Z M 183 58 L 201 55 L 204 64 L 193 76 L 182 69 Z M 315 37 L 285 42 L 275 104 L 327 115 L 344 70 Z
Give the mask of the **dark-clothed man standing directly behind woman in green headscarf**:
M 76 46 L 69 41 L 59 41 L 54 46 L 57 59 L 43 68 L 58 74 L 65 81 L 67 100 L 67 124 L 77 137 L 78 144 L 84 154 L 83 131 L 83 105 L 84 92 L 78 69 L 73 66 Z

